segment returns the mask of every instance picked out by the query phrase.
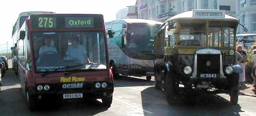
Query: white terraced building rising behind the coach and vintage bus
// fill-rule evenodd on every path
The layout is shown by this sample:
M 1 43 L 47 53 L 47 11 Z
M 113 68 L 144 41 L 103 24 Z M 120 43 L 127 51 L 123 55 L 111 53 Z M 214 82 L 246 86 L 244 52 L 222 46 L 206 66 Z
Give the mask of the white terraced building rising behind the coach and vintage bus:
M 170 17 L 192 9 L 221 9 L 234 15 L 234 0 L 137 0 L 138 18 L 166 21 Z

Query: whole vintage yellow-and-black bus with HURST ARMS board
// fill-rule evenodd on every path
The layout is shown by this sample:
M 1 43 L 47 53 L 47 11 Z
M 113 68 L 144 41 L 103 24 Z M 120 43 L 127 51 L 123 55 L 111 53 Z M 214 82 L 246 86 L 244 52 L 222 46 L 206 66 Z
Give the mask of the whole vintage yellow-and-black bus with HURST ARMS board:
M 193 101 L 197 91 L 229 93 L 230 102 L 237 104 L 242 71 L 235 61 L 238 24 L 225 11 L 193 9 L 158 28 L 154 37 L 155 88 L 165 92 L 169 104 L 184 95 Z

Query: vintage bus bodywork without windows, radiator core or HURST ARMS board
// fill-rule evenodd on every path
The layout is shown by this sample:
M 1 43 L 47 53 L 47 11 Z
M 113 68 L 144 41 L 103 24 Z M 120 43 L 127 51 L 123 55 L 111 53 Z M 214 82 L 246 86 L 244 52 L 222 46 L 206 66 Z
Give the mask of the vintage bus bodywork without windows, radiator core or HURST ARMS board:
M 206 31 L 206 44 L 205 46 L 184 46 L 179 45 L 180 40 L 180 32 L 181 32 L 181 24 L 205 24 Z M 192 11 L 187 11 L 180 13 L 176 16 L 165 21 L 161 27 L 155 32 L 154 39 L 154 54 L 156 60 L 154 61 L 155 65 L 155 85 L 156 88 L 166 89 L 172 83 L 168 80 L 175 81 L 174 83 L 183 84 L 188 90 L 198 90 L 200 88 L 200 83 L 202 81 L 209 82 L 207 85 L 210 87 L 215 87 L 217 91 L 211 91 L 215 93 L 230 93 L 232 85 L 231 75 L 234 76 L 234 80 L 237 78 L 236 69 L 241 69 L 241 67 L 234 66 L 235 64 L 235 51 L 236 51 L 236 29 L 239 21 L 229 15 L 225 15 L 223 19 L 198 19 L 193 18 Z M 175 28 L 171 28 L 170 25 L 175 24 Z M 210 44 L 210 31 L 209 27 L 219 27 L 221 29 L 220 41 L 218 40 L 218 47 L 214 47 L 214 43 Z M 224 47 L 224 36 L 223 36 L 223 27 L 232 27 L 233 28 L 233 45 L 230 43 L 230 35 L 229 35 L 229 45 L 228 47 Z M 166 30 L 167 29 L 167 30 Z M 175 44 L 170 45 L 170 35 L 166 35 L 167 31 L 172 30 L 172 35 L 175 37 Z M 230 30 L 230 29 L 229 29 Z M 230 32 L 230 31 L 229 31 Z M 214 40 L 214 39 L 213 39 Z M 220 44 L 219 44 L 220 42 Z M 230 47 L 231 46 L 231 47 Z M 203 52 L 214 51 L 215 53 L 221 56 L 219 74 L 215 79 L 201 79 L 199 77 L 199 71 L 197 71 L 198 67 L 198 55 Z M 207 53 L 206 53 L 207 54 Z M 210 60 L 209 60 L 210 61 Z M 212 63 L 212 62 L 211 62 Z M 191 67 L 192 72 L 189 74 L 184 73 L 184 68 L 186 66 Z M 232 66 L 234 71 L 232 74 L 225 73 L 225 68 L 228 66 Z M 171 76 L 170 76 L 171 75 Z M 217 81 L 223 85 L 218 85 Z M 237 83 L 237 82 L 236 82 Z M 236 84 L 235 84 L 236 85 Z M 166 87 L 167 86 L 167 87 Z M 175 85 L 174 85 L 175 86 Z M 193 88 L 193 89 L 192 89 Z M 201 88 L 200 88 L 201 89 Z M 203 88 L 204 89 L 204 88 Z M 170 92 L 172 90 L 164 90 L 165 92 Z M 167 93 L 166 93 L 167 95 Z M 168 95 L 167 95 L 168 96 Z M 167 99 L 169 99 L 167 97 Z M 169 103 L 169 101 L 168 101 Z M 171 102 L 169 103 L 171 104 Z

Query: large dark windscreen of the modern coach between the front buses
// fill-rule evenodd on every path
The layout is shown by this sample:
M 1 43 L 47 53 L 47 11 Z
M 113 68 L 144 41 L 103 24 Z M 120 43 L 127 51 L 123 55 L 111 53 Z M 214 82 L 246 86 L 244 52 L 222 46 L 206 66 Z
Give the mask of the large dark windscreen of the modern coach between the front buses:
M 128 24 L 129 56 L 135 59 L 153 60 L 154 33 L 159 24 Z

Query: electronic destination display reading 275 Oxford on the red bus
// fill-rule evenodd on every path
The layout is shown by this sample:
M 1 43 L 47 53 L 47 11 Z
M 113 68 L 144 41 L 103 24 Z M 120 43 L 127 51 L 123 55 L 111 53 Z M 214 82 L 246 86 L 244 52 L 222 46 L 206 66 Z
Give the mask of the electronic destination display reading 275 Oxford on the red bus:
M 95 16 L 31 16 L 33 29 L 103 28 L 102 15 Z

